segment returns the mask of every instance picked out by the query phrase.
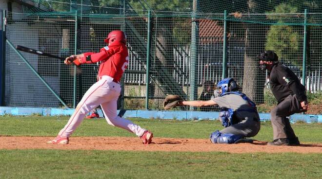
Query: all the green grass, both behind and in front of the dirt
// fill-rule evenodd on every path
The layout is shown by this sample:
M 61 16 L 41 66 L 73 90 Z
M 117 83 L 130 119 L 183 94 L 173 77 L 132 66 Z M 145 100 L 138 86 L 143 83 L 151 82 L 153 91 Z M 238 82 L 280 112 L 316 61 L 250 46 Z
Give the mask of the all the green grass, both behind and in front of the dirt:
M 68 117 L 0 117 L 0 136 L 56 136 Z M 218 121 L 131 119 L 156 137 L 207 139 Z M 322 124 L 293 124 L 302 143 L 322 143 Z M 134 137 L 103 119 L 84 120 L 73 136 Z M 271 141 L 262 123 L 256 140 Z M 321 148 L 322 150 L 322 148 Z M 0 179 L 320 179 L 322 155 L 0 149 Z

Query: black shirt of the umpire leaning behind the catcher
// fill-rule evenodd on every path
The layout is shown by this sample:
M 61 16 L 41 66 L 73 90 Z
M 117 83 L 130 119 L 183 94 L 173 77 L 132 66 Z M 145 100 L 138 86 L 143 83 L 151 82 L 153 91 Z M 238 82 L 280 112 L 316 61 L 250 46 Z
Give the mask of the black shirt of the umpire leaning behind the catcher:
M 290 94 L 295 94 L 300 102 L 306 101 L 305 87 L 294 72 L 281 63 L 273 65 L 269 75 L 269 84 L 279 103 Z

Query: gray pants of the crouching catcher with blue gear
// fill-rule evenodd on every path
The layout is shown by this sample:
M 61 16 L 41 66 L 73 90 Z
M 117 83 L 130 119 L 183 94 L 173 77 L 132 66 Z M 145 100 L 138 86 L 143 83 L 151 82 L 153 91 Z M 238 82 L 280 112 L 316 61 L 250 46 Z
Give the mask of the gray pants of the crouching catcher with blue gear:
M 258 115 L 258 114 L 257 114 Z M 254 137 L 261 129 L 260 118 L 250 117 L 242 120 L 240 123 L 230 125 L 222 129 L 221 133 L 230 133 L 234 135 L 241 135 L 243 137 Z

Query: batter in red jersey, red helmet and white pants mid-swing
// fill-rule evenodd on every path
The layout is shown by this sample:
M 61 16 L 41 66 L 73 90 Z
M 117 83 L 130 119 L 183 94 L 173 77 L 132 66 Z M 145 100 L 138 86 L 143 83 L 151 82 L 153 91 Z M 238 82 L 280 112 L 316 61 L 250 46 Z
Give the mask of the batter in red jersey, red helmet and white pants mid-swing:
M 88 52 L 71 55 L 65 59 L 66 65 L 101 61 L 98 72 L 99 81 L 85 92 L 68 123 L 60 130 L 58 136 L 48 143 L 67 144 L 69 137 L 80 125 L 85 115 L 99 105 L 109 125 L 135 133 L 144 144 L 151 143 L 153 133 L 117 115 L 117 100 L 121 92 L 120 79 L 129 60 L 126 36 L 122 31 L 112 31 L 104 41 L 108 46 L 101 48 L 99 53 Z

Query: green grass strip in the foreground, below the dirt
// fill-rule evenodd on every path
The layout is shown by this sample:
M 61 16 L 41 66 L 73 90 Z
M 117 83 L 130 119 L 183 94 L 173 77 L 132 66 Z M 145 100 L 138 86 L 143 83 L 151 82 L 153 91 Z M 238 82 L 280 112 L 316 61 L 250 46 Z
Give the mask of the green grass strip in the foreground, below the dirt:
M 322 176 L 322 155 L 317 154 L 0 150 L 0 156 L 1 179 L 319 179 Z

